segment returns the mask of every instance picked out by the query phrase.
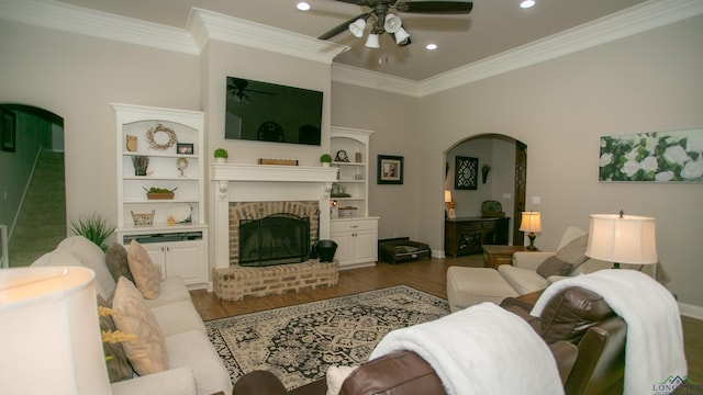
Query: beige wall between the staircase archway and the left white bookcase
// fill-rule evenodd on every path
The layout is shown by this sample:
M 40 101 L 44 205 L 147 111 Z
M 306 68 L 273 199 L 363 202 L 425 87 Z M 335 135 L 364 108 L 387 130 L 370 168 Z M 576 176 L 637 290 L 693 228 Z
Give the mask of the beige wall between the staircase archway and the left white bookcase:
M 110 102 L 200 110 L 198 57 L 3 20 L 0 102 L 64 119 L 66 215 L 116 224 L 116 123 Z

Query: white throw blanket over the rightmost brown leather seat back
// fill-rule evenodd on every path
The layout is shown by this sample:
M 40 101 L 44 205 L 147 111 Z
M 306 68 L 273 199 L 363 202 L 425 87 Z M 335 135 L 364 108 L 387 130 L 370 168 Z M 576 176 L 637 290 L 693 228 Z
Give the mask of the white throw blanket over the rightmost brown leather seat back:
M 647 274 L 635 270 L 600 270 L 551 284 L 535 304 L 539 316 L 557 292 L 581 286 L 603 296 L 627 323 L 625 395 L 651 394 L 652 385 L 687 374 L 679 306 L 671 293 Z

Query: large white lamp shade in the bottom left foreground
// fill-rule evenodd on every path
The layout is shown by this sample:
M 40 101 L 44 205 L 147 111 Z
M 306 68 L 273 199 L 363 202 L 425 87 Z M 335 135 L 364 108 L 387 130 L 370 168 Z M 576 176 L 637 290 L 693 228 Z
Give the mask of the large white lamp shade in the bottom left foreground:
M 0 393 L 110 394 L 94 272 L 0 270 Z

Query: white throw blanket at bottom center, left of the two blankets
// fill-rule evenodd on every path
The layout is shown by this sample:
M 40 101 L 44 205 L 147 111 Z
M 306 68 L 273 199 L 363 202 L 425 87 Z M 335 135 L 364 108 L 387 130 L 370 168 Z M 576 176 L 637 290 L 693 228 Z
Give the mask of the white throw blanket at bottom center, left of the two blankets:
M 525 320 L 492 303 L 393 330 L 370 359 L 399 350 L 427 361 L 449 395 L 563 394 L 544 340 Z

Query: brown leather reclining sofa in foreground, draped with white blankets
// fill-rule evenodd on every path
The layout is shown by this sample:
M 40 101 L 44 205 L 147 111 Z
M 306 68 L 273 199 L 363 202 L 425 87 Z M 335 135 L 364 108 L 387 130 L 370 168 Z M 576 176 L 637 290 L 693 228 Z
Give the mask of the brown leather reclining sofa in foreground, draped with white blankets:
M 539 317 L 532 303 L 507 298 L 501 304 L 520 315 L 551 349 L 565 393 L 622 394 L 627 326 L 603 298 L 581 287 L 555 295 Z M 538 374 L 538 372 L 535 372 Z M 234 395 L 324 395 L 325 380 L 286 391 L 267 371 L 250 372 L 234 385 Z M 412 351 L 393 352 L 356 369 L 343 383 L 343 395 L 445 394 L 432 366 Z

